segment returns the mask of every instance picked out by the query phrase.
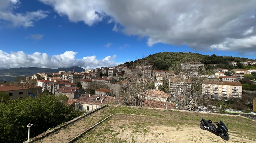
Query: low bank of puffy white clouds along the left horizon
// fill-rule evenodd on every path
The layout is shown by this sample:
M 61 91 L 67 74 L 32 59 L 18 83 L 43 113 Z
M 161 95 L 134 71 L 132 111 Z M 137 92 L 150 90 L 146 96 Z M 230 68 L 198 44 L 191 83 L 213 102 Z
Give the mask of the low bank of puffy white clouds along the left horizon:
M 116 55 L 107 56 L 104 59 L 96 59 L 96 56 L 87 56 L 82 59 L 75 59 L 77 52 L 66 51 L 60 55 L 50 57 L 46 53 L 35 52 L 31 55 L 23 51 L 6 53 L 0 50 L 0 68 L 19 68 L 19 67 L 43 67 L 54 68 L 80 66 L 84 69 L 116 66 Z

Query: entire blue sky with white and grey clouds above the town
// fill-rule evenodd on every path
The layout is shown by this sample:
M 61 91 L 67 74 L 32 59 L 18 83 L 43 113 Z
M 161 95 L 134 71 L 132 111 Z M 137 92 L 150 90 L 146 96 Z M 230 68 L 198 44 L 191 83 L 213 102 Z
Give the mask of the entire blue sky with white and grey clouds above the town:
M 0 69 L 93 69 L 158 52 L 256 59 L 255 0 L 0 0 Z

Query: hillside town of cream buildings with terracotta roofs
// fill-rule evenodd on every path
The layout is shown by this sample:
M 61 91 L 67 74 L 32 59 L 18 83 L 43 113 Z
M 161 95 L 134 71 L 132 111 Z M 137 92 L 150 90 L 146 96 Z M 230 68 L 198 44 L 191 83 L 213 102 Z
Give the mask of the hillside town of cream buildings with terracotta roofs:
M 244 66 L 253 65 L 256 62 L 241 62 Z M 229 64 L 237 64 L 230 62 Z M 216 66 L 218 64 L 208 64 Z M 136 68 L 128 67 L 125 64 L 115 67 L 101 67 L 86 69 L 78 73 L 75 71 L 59 71 L 58 73 L 36 73 L 26 77 L 20 83 L 2 84 L 1 92 L 9 94 L 10 98 L 35 97 L 37 94 L 49 93 L 55 96 L 65 95 L 69 98 L 69 106 L 76 110 L 91 111 L 106 104 L 129 105 L 129 98 L 124 96 L 125 89 L 129 86 L 130 77 L 135 79 L 134 71 L 140 71 L 139 83 L 150 84 L 150 88 L 144 89 L 142 103 L 139 106 L 151 108 L 179 109 L 177 100 L 184 98 L 188 92 L 194 90 L 195 84 L 192 79 L 203 77 L 200 82 L 201 90 L 195 92 L 196 96 L 189 101 L 189 108 L 185 110 L 202 111 L 198 108 L 198 101 L 195 97 L 217 100 L 238 100 L 243 97 L 241 80 L 245 75 L 250 75 L 255 69 L 215 69 L 214 75 L 200 75 L 199 68 L 205 64 L 200 62 L 184 62 L 180 67 L 183 72 L 174 74 L 174 71 L 154 70 L 152 65 L 136 65 Z M 197 69 L 197 70 L 193 70 Z M 185 73 L 187 70 L 188 73 Z M 229 73 L 227 75 L 227 73 Z M 231 75 L 230 75 L 231 73 Z M 185 79 L 185 80 L 184 80 Z M 34 85 L 31 81 L 36 82 Z M 199 81 L 197 81 L 199 83 Z M 166 86 L 163 85 L 166 83 Z M 253 99 L 250 99 L 253 102 Z M 193 102 L 193 104 L 191 103 Z M 255 110 L 255 103 L 254 111 Z M 138 105 L 137 105 L 138 106 Z M 206 111 L 206 110 L 205 110 Z

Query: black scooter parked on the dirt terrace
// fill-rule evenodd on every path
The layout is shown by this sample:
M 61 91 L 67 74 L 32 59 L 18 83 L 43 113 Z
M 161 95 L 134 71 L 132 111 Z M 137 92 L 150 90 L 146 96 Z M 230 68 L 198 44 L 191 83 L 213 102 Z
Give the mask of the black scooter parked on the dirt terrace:
M 217 136 L 221 136 L 221 138 L 223 140 L 228 141 L 229 140 L 229 135 L 227 133 L 228 129 L 225 126 L 225 124 L 222 121 L 219 122 L 215 122 L 217 123 L 217 128 L 214 124 L 212 124 L 211 120 L 205 120 L 204 118 L 202 118 L 202 120 L 200 121 L 200 128 L 203 130 L 208 130 L 214 134 L 216 134 Z M 228 124 L 227 124 L 228 126 Z

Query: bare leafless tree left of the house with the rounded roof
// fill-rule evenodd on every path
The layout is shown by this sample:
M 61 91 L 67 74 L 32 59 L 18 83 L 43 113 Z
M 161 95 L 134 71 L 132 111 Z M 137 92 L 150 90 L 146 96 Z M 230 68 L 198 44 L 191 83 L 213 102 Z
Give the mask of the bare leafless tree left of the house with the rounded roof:
M 146 100 L 146 91 L 154 80 L 151 75 L 152 65 L 147 57 L 136 60 L 131 66 L 131 74 L 127 75 L 122 95 L 124 102 L 130 106 L 142 106 Z

